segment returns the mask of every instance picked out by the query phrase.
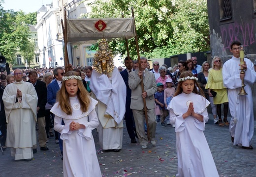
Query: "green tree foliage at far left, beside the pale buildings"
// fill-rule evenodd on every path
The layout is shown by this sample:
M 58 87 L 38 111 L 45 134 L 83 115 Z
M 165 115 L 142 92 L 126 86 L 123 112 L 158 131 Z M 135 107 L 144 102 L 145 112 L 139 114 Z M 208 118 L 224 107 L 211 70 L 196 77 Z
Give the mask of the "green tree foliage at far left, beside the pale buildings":
M 36 22 L 36 13 L 25 14 L 23 11 L 3 10 L 0 0 L 0 53 L 14 64 L 16 52 L 30 50 L 30 29 L 27 24 Z

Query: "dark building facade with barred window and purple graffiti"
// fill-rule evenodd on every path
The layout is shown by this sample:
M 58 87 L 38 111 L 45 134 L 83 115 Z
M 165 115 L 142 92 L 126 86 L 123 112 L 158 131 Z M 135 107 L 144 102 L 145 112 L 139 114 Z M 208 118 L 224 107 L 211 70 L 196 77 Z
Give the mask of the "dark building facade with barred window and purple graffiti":
M 246 57 L 256 58 L 256 0 L 207 0 L 211 55 L 231 57 L 230 44 L 240 41 Z

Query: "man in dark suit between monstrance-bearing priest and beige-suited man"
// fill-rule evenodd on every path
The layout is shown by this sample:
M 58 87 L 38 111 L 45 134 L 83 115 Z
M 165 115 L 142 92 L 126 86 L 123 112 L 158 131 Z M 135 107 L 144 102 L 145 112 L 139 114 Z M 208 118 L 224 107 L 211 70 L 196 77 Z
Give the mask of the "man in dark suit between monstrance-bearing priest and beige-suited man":
M 125 66 L 126 69 L 122 71 L 120 74 L 123 77 L 126 83 L 126 113 L 125 113 L 125 120 L 126 120 L 126 128 L 130 137 L 131 143 L 137 143 L 135 139 L 135 123 L 132 115 L 132 109 L 130 108 L 130 97 L 131 97 L 131 90 L 128 85 L 128 73 L 132 71 L 132 60 L 128 57 L 125 58 Z

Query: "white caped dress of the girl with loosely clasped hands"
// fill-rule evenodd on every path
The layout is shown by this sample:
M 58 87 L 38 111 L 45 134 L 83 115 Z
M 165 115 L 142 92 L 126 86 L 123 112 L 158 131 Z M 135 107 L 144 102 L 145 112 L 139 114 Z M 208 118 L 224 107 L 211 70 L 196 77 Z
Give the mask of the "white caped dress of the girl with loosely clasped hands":
M 71 115 L 66 115 L 61 110 L 59 102 L 51 109 L 55 114 L 54 129 L 61 133 L 63 139 L 64 177 L 101 177 L 92 135 L 92 130 L 99 124 L 95 111 L 97 101 L 91 99 L 87 112 L 82 112 L 77 97 L 69 97 L 69 101 L 72 106 Z M 65 125 L 62 125 L 62 120 Z M 69 125 L 72 121 L 86 128 L 70 131 Z

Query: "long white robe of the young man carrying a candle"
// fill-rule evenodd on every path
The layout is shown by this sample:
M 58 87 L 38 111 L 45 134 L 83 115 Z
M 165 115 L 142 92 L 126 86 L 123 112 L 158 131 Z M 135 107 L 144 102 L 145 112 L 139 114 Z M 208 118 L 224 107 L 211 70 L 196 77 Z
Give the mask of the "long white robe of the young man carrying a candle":
M 248 95 L 238 95 L 242 83 L 240 79 L 240 58 L 232 57 L 223 65 L 222 74 L 224 86 L 228 88 L 228 104 L 232 116 L 229 131 L 234 137 L 234 145 L 249 147 L 254 134 L 253 95 L 251 86 L 256 81 L 254 64 L 248 58 L 244 58 L 247 65 L 244 87 Z

